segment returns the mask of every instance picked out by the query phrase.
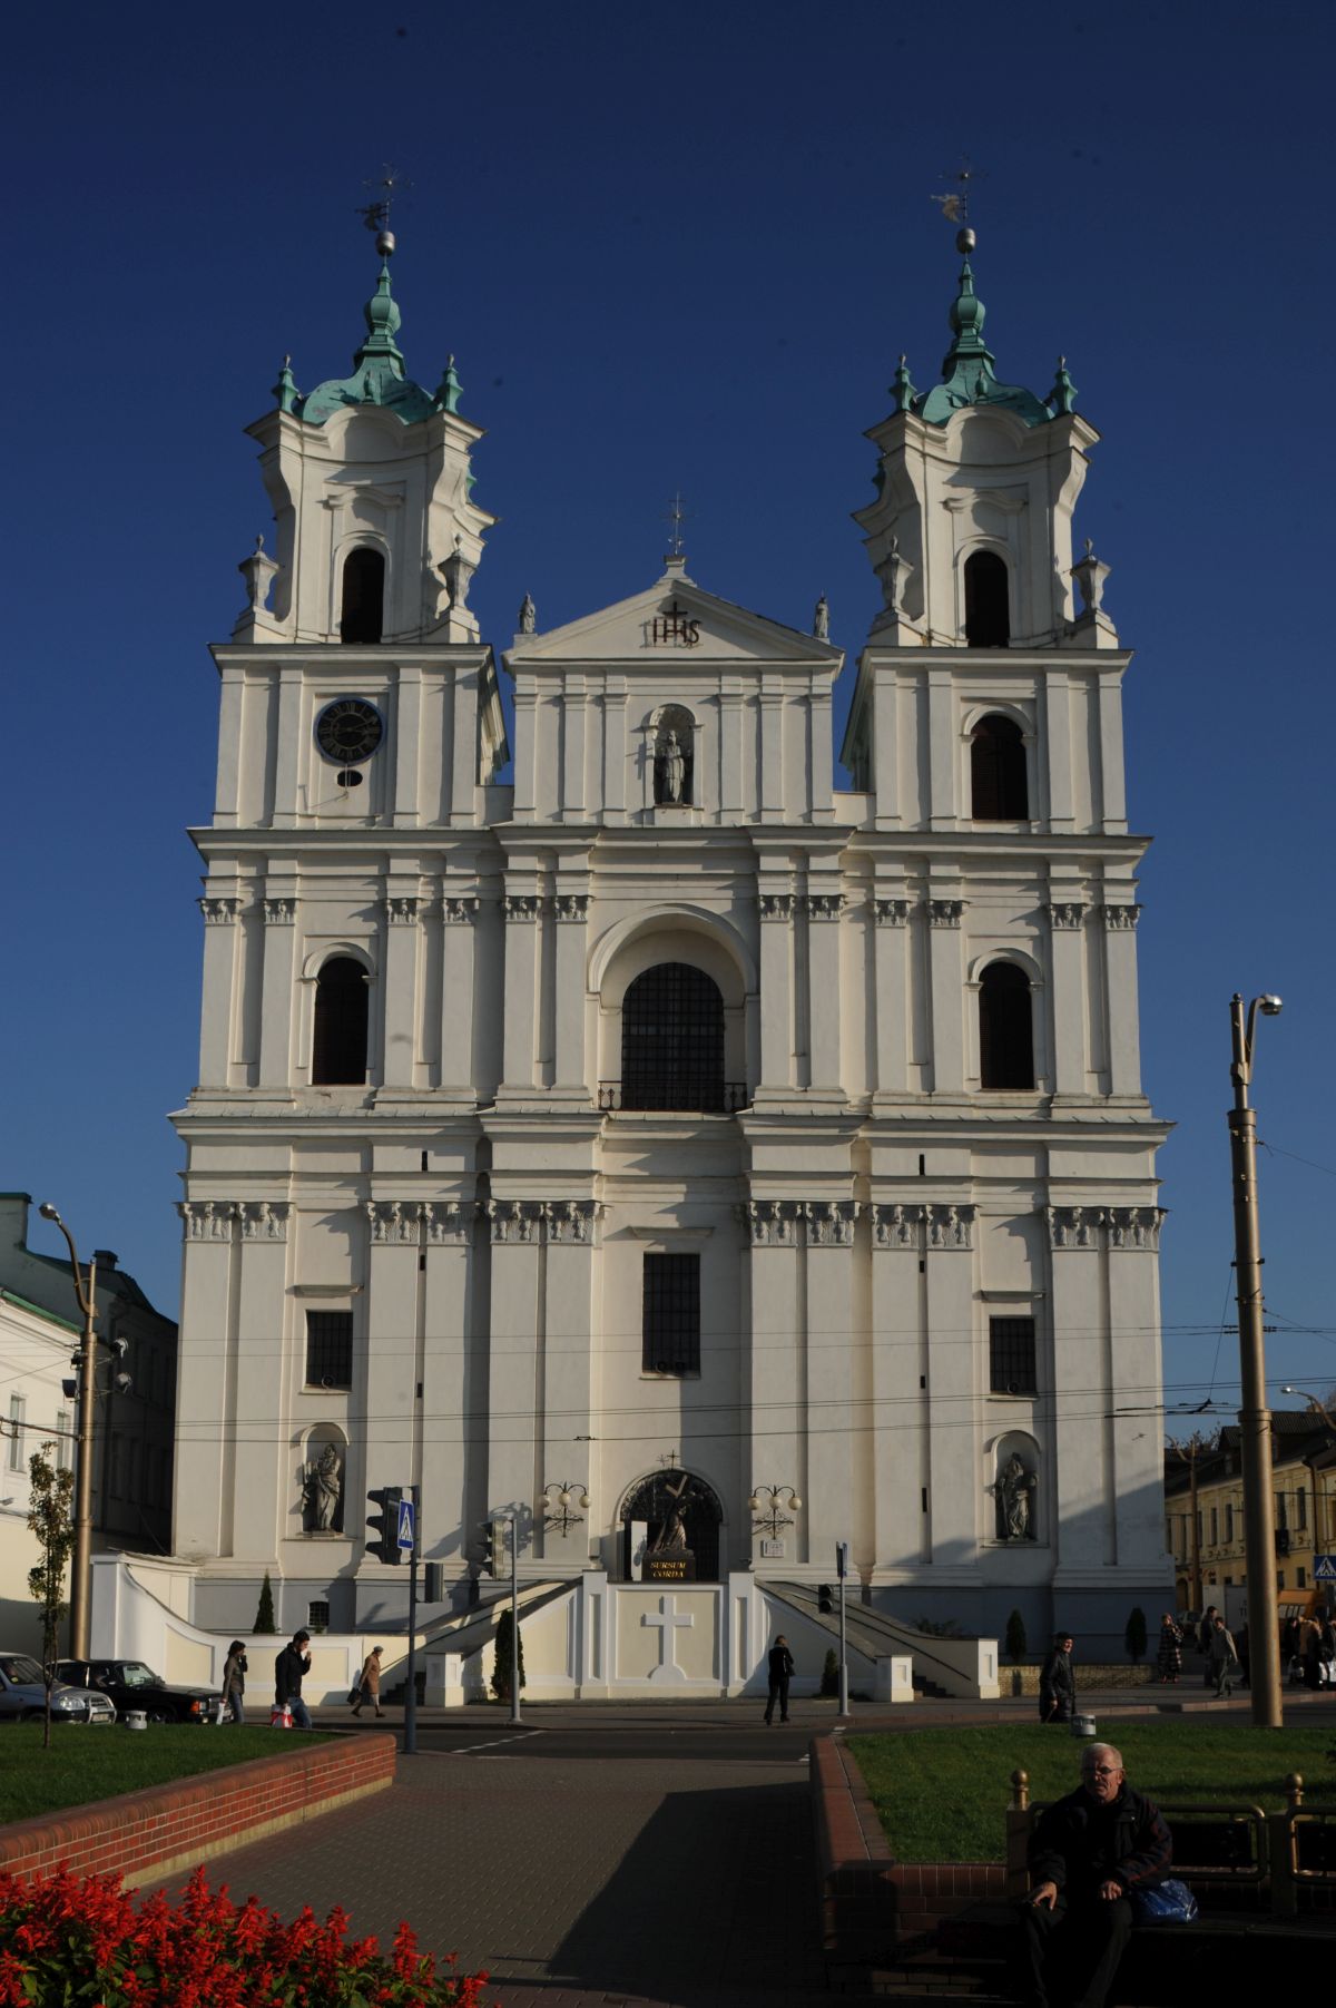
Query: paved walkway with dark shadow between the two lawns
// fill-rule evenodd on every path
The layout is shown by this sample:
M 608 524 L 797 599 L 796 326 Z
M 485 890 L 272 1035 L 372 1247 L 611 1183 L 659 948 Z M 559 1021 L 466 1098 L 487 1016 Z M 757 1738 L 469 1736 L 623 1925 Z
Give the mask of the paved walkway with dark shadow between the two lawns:
M 800 1745 L 798 1745 L 800 1749 Z M 485 1968 L 504 2008 L 826 2000 L 806 1765 L 419 1751 L 395 1785 L 215 1863 L 285 1916 L 351 1912 Z

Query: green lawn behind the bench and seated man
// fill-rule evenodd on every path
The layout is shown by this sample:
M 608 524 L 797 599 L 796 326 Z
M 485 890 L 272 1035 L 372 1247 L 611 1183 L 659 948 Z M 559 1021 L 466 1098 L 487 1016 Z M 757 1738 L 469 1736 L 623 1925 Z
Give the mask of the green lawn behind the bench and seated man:
M 1336 1803 L 1336 1719 L 1322 1729 L 1252 1729 L 1240 1723 L 1125 1723 L 1109 1731 L 1127 1777 L 1161 1805 L 1284 1805 L 1298 1771 L 1310 1799 Z M 1011 1773 L 1029 1771 L 1033 1799 L 1061 1799 L 1077 1785 L 1085 1747 L 1037 1723 L 989 1729 L 911 1729 L 849 1737 L 883 1831 L 901 1861 L 1001 1861 Z

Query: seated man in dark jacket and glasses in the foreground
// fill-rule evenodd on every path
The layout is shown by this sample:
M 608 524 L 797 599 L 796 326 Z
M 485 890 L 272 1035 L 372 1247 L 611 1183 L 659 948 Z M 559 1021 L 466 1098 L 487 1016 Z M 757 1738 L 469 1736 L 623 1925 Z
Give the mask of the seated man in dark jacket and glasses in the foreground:
M 1103 2008 L 1131 1930 L 1127 1892 L 1155 1890 L 1172 1843 L 1159 1807 L 1133 1791 L 1107 1743 L 1081 1753 L 1081 1785 L 1043 1809 L 1029 1839 L 1019 1994 L 1049 2008 Z

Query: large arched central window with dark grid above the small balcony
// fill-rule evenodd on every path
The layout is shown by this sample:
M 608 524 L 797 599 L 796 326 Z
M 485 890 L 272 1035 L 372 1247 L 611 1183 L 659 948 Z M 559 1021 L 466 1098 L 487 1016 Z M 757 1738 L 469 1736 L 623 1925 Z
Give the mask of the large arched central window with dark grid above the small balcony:
M 622 1108 L 724 1106 L 724 1000 L 704 970 L 658 962 L 622 998 Z

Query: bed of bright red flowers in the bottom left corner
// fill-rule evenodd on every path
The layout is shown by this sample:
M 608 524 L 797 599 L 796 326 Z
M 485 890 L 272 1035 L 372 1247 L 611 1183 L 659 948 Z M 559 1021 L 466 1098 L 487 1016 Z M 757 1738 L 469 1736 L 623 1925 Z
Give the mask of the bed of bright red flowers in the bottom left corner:
M 453 1964 L 453 1962 L 451 1962 Z M 0 1873 L 0 2004 L 88 2008 L 481 2008 L 485 1974 L 437 1974 L 407 1924 L 385 1958 L 347 1916 L 293 1924 L 195 1869 L 181 1904 L 138 1908 L 120 1875 Z

